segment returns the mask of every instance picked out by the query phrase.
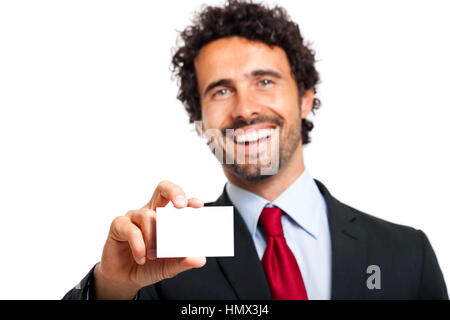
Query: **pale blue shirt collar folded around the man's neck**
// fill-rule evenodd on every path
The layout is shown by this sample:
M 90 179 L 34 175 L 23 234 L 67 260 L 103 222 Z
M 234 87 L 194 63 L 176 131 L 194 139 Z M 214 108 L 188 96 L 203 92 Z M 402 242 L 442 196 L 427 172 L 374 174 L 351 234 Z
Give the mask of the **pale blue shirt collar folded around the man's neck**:
M 231 182 L 227 183 L 226 191 L 242 215 L 252 237 L 256 233 L 262 209 L 266 205 L 275 205 L 312 237 L 317 238 L 321 215 L 326 213 L 326 204 L 314 179 L 306 170 L 271 203 Z

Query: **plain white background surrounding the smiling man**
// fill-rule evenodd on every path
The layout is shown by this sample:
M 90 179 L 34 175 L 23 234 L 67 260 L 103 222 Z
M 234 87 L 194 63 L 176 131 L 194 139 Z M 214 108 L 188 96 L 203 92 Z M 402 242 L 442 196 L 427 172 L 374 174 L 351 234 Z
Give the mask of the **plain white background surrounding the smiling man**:
M 162 179 L 222 192 L 169 71 L 204 2 L 0 1 L 0 298 L 60 299 Z M 307 170 L 342 202 L 422 229 L 449 282 L 448 1 L 277 3 L 319 60 Z

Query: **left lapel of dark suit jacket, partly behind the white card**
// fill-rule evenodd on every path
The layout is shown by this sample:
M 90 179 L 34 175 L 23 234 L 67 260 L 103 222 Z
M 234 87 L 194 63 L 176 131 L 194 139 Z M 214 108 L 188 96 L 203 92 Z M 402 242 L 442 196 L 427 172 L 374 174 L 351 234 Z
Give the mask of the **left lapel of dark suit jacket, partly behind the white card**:
M 224 189 L 211 206 L 232 206 Z M 271 299 L 269 285 L 253 243 L 240 213 L 234 208 L 234 257 L 216 258 L 238 299 Z

